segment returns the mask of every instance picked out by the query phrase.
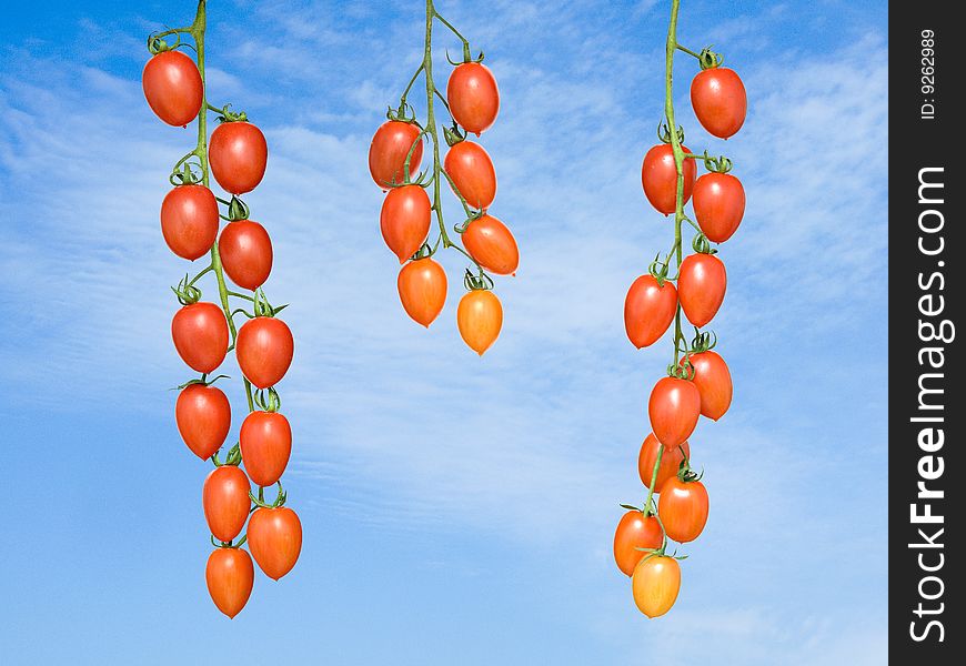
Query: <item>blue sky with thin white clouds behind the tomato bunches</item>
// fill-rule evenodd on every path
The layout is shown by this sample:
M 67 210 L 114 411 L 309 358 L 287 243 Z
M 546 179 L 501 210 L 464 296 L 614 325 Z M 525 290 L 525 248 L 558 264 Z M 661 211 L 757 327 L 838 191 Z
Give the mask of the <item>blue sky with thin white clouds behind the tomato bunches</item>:
M 640 182 L 668 3 L 437 4 L 499 80 L 491 211 L 522 252 L 482 360 L 456 332 L 456 253 L 437 322 L 405 316 L 366 169 L 421 57 L 421 3 L 210 2 L 210 101 L 270 147 L 246 201 L 274 244 L 266 291 L 291 303 L 279 389 L 304 527 L 295 569 L 256 574 L 232 622 L 204 587 L 210 465 L 169 391 L 190 376 L 168 289 L 187 263 L 158 210 L 194 130 L 160 122 L 140 85 L 144 37 L 194 2 L 4 8 L 0 660 L 885 663 L 886 3 L 682 3 L 682 43 L 723 51 L 749 110 L 728 142 L 704 132 L 682 53 L 678 121 L 692 150 L 734 160 L 748 204 L 713 326 L 735 400 L 691 438 L 711 518 L 656 620 L 612 539 L 617 504 L 643 501 L 670 347 L 636 351 L 622 316 L 671 241 Z M 457 44 L 436 41 L 443 88 Z M 239 382 L 223 387 L 241 414 Z

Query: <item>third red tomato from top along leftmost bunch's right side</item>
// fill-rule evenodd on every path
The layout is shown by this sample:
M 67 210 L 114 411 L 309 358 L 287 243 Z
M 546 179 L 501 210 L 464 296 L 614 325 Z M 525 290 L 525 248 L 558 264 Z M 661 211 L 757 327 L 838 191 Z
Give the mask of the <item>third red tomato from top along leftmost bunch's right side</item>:
M 259 389 L 278 384 L 295 353 L 292 332 L 282 320 L 256 316 L 239 329 L 235 355 L 242 374 Z

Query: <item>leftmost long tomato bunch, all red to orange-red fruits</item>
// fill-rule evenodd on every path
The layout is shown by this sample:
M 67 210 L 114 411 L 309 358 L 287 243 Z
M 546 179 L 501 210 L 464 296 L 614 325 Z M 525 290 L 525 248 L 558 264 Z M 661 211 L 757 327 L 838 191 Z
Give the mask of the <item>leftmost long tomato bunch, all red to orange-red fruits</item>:
M 292 362 L 294 341 L 289 326 L 275 316 L 284 305 L 273 307 L 262 289 L 272 270 L 271 239 L 262 224 L 249 219 L 249 206 L 239 198 L 262 181 L 268 144 L 243 112 L 208 103 L 204 29 L 202 0 L 191 26 L 149 37 L 152 57 L 142 82 L 144 97 L 161 120 L 175 127 L 198 120 L 197 145 L 175 164 L 169 179 L 173 189 L 161 203 L 161 232 L 171 251 L 189 261 L 209 258 L 208 265 L 193 278 L 185 275 L 172 287 L 181 304 L 171 321 L 174 349 L 184 364 L 201 375 L 179 386 L 174 417 L 188 448 L 214 464 L 201 493 L 202 512 L 215 546 L 204 576 L 214 605 L 234 617 L 248 603 L 254 584 L 252 557 L 242 544 L 248 542 L 259 568 L 274 579 L 292 569 L 302 547 L 299 517 L 283 506 L 286 495 L 281 476 L 292 451 L 292 428 L 279 412 L 281 400 L 275 390 Z M 197 62 L 177 50 L 182 36 L 193 38 Z M 164 39 L 170 37 L 175 39 L 173 44 Z M 218 111 L 221 121 L 210 138 L 209 110 Z M 231 199 L 211 191 L 209 168 Z M 225 206 L 225 214 L 220 205 Z M 223 228 L 221 220 L 228 221 Z M 199 280 L 209 273 L 215 279 L 217 303 L 201 300 Z M 229 289 L 227 280 L 239 291 Z M 250 311 L 232 309 L 233 299 Z M 239 314 L 248 317 L 240 327 L 235 323 Z M 243 375 L 249 414 L 242 421 L 238 443 L 222 462 L 219 452 L 231 431 L 231 404 L 214 385 L 224 375 L 210 375 L 219 371 L 230 351 L 234 351 Z M 264 491 L 273 485 L 278 485 L 278 495 L 269 503 Z M 240 537 L 245 523 L 246 534 Z

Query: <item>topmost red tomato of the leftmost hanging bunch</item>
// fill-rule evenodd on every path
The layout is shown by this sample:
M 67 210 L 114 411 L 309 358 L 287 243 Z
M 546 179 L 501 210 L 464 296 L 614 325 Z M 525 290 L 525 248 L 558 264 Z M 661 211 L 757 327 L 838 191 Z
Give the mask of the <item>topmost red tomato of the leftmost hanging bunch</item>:
M 194 61 L 181 51 L 152 56 L 141 73 L 144 97 L 158 118 L 184 127 L 201 111 L 204 84 Z

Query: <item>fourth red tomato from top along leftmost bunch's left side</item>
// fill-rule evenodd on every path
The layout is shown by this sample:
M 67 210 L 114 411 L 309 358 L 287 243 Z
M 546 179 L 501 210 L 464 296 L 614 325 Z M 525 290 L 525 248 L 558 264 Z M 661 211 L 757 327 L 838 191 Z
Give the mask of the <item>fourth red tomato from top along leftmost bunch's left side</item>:
M 221 389 L 189 384 L 178 394 L 174 421 L 191 452 L 205 461 L 221 448 L 228 437 L 231 404 Z

